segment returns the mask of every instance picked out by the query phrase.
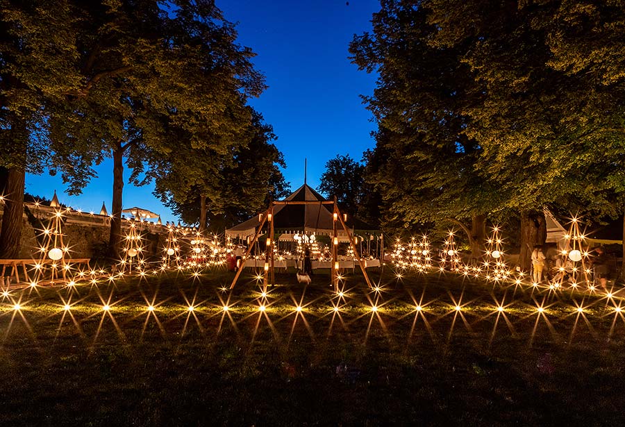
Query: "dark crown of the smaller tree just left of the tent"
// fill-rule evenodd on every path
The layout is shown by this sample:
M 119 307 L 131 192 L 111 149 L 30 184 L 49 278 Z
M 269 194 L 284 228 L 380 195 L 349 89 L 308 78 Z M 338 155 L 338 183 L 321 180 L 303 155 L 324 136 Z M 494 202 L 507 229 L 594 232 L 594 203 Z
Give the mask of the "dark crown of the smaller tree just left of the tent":
M 283 156 L 272 143 L 273 128 L 258 112 L 248 111 L 251 122 L 238 135 L 238 145 L 225 153 L 178 140 L 169 156 L 153 157 L 154 194 L 187 224 L 199 222 L 201 196 L 206 197 L 208 221 L 214 223 L 209 225 L 222 230 L 289 194 L 279 169 L 285 167 Z

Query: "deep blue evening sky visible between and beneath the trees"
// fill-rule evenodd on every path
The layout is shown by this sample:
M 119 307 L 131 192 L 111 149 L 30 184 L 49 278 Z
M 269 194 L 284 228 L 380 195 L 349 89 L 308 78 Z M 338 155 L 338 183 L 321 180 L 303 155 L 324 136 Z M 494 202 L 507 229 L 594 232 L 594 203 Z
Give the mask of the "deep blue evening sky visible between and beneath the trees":
M 359 72 L 347 56 L 354 33 L 371 28 L 377 0 L 217 0 L 224 16 L 238 22 L 239 42 L 258 56 L 253 62 L 267 78 L 267 89 L 251 105 L 274 126 L 276 145 L 285 156 L 283 171 L 295 190 L 303 183 L 308 158 L 308 184 L 317 187 L 327 160 L 347 154 L 360 160 L 374 146 L 371 114 L 360 94 L 372 94 L 375 76 Z M 26 176 L 26 191 L 51 198 L 56 190 L 62 203 L 99 212 L 102 201 L 110 211 L 113 163 L 98 167 L 80 196 L 65 194 L 59 176 Z M 124 178 L 129 172 L 124 171 Z M 124 208 L 140 206 L 176 220 L 152 195 L 153 185 L 124 185 Z

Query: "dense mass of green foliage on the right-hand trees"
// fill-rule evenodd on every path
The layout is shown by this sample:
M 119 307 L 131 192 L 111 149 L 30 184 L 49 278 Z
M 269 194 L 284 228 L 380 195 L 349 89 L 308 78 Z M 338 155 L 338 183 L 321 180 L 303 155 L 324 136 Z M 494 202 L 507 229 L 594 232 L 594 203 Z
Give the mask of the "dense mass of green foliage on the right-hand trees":
M 381 6 L 350 52 L 380 76 L 365 101 L 387 224 L 544 205 L 622 211 L 622 3 Z

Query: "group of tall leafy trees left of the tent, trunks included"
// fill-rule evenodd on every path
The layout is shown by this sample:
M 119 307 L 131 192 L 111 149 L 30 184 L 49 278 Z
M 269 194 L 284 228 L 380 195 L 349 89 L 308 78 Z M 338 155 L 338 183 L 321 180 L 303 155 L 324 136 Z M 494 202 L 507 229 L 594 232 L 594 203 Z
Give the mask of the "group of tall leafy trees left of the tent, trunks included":
M 272 127 L 247 105 L 264 77 L 213 1 L 0 7 L 0 258 L 17 256 L 26 172 L 49 168 L 78 194 L 113 158 L 113 257 L 124 182 L 155 180 L 156 196 L 201 229 L 288 190 Z

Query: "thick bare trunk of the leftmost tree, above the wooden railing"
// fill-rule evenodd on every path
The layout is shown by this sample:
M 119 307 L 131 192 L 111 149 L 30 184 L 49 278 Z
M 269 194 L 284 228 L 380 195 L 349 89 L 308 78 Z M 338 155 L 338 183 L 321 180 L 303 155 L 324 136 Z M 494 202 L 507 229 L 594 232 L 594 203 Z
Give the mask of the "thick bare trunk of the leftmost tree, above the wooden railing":
M 4 189 L 4 213 L 0 231 L 0 258 L 18 258 L 19 240 L 22 237 L 22 217 L 24 215 L 24 181 L 26 169 L 8 169 Z

